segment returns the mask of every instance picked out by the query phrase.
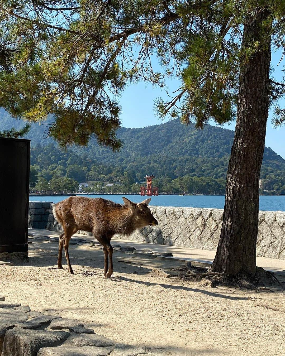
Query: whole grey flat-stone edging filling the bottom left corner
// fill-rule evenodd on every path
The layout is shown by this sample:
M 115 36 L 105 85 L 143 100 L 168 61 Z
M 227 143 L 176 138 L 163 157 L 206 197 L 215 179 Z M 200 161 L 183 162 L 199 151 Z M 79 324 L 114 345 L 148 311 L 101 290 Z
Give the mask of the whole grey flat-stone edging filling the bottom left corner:
M 32 312 L 0 295 L 1 356 L 161 356 L 153 351 L 95 334 L 79 320 Z

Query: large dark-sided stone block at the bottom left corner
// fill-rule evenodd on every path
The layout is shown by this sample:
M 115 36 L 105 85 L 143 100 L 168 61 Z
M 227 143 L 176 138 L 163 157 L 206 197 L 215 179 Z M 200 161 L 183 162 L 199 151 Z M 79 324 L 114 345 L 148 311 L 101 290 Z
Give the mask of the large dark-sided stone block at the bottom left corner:
M 60 345 L 69 335 L 65 331 L 10 329 L 4 337 L 2 356 L 37 356 L 42 347 Z

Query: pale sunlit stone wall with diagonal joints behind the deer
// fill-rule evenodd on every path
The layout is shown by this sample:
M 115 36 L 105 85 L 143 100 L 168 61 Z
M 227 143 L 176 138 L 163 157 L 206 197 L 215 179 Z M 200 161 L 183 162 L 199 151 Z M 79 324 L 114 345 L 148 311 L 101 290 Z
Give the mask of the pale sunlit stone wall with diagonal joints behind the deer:
M 173 208 L 150 206 L 159 225 L 146 226 L 131 236 L 115 235 L 117 239 L 154 244 L 216 250 L 222 227 L 223 209 Z M 47 229 L 61 231 L 52 214 Z M 84 231 L 80 233 L 91 235 Z M 285 259 L 285 212 L 259 211 L 257 256 Z

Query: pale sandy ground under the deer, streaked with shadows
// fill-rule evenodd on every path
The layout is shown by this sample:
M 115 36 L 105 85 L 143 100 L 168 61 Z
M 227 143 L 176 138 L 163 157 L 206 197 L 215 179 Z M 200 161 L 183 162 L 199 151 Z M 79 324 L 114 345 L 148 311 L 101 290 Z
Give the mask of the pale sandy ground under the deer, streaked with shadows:
M 149 272 L 181 262 L 119 251 L 112 278 L 103 279 L 103 251 L 89 245 L 70 245 L 71 275 L 64 257 L 64 269 L 55 268 L 57 249 L 55 241 L 34 242 L 29 262 L 1 265 L 0 294 L 161 355 L 285 355 L 284 291 L 254 293 L 160 279 Z

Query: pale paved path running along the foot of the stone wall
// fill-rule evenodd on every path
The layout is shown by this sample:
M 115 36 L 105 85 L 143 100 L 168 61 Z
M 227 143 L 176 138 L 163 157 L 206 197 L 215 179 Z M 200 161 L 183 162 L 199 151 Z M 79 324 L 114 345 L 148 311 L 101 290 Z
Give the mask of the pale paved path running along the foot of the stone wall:
M 58 237 L 59 232 L 41 230 L 41 229 L 28 229 L 28 231 L 35 236 L 48 236 L 48 237 Z M 73 237 L 85 239 L 85 240 L 96 240 L 93 236 L 74 234 Z M 154 252 L 171 252 L 173 257 L 185 261 L 196 261 L 203 263 L 212 263 L 215 257 L 215 251 L 208 250 L 198 250 L 196 248 L 178 247 L 178 246 L 168 246 L 168 245 L 157 245 L 149 244 L 147 242 L 138 242 L 130 240 L 112 239 L 112 245 L 123 246 L 134 246 L 136 250 L 141 250 L 143 248 L 148 248 Z M 257 266 L 263 267 L 268 271 L 275 272 L 277 274 L 285 275 L 285 260 L 276 260 L 274 258 L 257 257 Z

